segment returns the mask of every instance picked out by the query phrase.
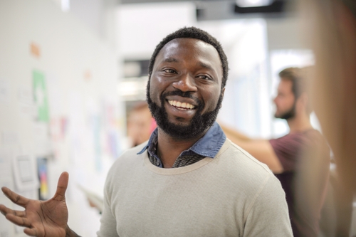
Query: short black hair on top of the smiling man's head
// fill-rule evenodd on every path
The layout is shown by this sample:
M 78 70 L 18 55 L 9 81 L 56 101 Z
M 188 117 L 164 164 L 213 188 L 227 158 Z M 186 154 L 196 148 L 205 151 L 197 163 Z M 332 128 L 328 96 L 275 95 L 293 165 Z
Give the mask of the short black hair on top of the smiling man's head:
M 223 78 L 221 82 L 221 89 L 225 87 L 226 85 L 226 80 L 227 76 L 229 73 L 229 65 L 227 63 L 227 58 L 224 53 L 223 48 L 221 47 L 221 44 L 219 41 L 216 40 L 213 36 L 211 36 L 209 33 L 206 31 L 203 31 L 199 28 L 196 28 L 194 26 L 191 27 L 184 27 L 180 28 L 177 31 L 174 31 L 173 33 L 170 33 L 168 36 L 166 36 L 159 44 L 156 46 L 155 51 L 152 53 L 151 59 L 150 59 L 150 65 L 148 66 L 148 78 L 150 80 L 151 75 L 152 75 L 152 70 L 153 70 L 153 65 L 155 64 L 156 57 L 161 51 L 161 49 L 169 42 L 172 41 L 174 38 L 196 38 L 200 41 L 204 41 L 205 43 L 209 43 L 211 46 L 216 48 L 216 51 L 218 51 L 220 60 L 221 60 L 221 67 L 223 70 Z

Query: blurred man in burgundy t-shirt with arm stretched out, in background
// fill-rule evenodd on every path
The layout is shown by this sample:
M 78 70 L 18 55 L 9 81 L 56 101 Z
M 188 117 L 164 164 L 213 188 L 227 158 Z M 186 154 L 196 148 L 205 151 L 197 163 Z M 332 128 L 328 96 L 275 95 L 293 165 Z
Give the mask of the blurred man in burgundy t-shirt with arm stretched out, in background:
M 267 164 L 281 181 L 295 237 L 318 236 L 330 166 L 328 144 L 310 124 L 311 107 L 305 86 L 307 70 L 310 68 L 286 68 L 279 73 L 281 82 L 273 100 L 275 117 L 287 120 L 288 135 L 270 140 L 250 139 L 223 126 L 232 142 Z

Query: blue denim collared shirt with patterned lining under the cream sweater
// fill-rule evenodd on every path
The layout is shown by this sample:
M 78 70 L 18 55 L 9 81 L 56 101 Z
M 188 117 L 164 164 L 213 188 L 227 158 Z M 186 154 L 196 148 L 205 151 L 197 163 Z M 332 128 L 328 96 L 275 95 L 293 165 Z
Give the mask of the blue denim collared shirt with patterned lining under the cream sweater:
M 217 122 L 206 132 L 206 134 L 201 137 L 197 142 L 194 143 L 192 147 L 184 150 L 173 164 L 172 168 L 184 167 L 205 157 L 214 158 L 219 152 L 219 149 L 224 144 L 226 140 L 226 135 Z M 158 143 L 158 130 L 152 132 L 147 145 L 137 154 L 142 154 L 147 149 L 150 162 L 157 167 L 162 167 L 163 164 L 161 159 L 157 156 L 157 143 Z

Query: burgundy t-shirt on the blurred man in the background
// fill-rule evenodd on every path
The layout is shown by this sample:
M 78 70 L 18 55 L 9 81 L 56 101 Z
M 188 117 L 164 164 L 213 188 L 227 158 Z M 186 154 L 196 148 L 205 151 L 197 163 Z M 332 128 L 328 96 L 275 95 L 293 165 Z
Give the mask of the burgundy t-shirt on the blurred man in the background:
M 318 236 L 320 210 L 329 178 L 330 149 L 317 130 L 269 141 L 283 166 L 276 174 L 286 192 L 295 237 Z

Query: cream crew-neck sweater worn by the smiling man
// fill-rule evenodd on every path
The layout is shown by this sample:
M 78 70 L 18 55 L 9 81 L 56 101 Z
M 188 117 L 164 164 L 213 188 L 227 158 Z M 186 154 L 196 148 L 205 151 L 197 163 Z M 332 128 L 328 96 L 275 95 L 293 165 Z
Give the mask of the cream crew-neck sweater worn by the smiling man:
M 214 159 L 174 169 L 142 147 L 110 169 L 98 236 L 293 236 L 280 182 L 229 139 Z

